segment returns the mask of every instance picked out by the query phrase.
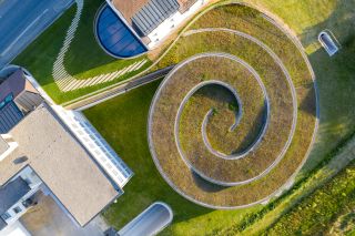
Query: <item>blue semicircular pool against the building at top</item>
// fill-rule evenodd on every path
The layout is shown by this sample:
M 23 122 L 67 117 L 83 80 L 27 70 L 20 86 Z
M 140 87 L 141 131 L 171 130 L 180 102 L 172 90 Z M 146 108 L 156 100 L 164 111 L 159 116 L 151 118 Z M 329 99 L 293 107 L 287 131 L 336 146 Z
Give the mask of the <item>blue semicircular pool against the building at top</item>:
M 100 10 L 95 28 L 99 43 L 115 58 L 133 58 L 148 51 L 108 4 Z

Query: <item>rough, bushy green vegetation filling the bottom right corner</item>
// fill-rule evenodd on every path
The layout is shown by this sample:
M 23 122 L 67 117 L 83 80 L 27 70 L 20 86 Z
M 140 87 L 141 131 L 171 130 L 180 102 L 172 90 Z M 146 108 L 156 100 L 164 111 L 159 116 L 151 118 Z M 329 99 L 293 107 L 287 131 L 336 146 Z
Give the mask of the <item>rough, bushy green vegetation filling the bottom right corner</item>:
M 355 163 L 316 189 L 264 235 L 345 235 L 354 225 Z

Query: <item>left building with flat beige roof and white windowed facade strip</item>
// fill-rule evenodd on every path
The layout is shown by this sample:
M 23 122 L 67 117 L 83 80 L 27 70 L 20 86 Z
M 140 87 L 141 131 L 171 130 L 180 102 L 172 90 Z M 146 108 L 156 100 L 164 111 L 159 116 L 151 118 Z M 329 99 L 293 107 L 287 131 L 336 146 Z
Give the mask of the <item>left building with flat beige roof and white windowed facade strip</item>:
M 80 226 L 123 194 L 133 175 L 81 113 L 47 102 L 1 134 L 0 157 L 0 187 L 26 170 Z

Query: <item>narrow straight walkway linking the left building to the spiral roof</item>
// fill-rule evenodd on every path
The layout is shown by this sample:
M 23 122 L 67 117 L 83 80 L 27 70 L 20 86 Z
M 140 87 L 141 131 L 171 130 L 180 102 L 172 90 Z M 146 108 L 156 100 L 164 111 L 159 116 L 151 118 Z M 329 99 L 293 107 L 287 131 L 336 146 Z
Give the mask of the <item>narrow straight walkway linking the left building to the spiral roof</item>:
M 98 95 L 89 96 L 88 99 L 80 100 L 79 102 L 67 105 L 65 109 L 83 111 L 90 109 L 94 105 L 98 105 L 104 101 L 113 99 L 120 94 L 126 93 L 133 89 L 140 88 L 153 81 L 164 78 L 175 65 L 170 65 L 168 68 L 161 69 L 153 73 L 146 74 L 142 78 L 129 81 L 119 86 L 115 86 L 105 92 L 99 93 Z

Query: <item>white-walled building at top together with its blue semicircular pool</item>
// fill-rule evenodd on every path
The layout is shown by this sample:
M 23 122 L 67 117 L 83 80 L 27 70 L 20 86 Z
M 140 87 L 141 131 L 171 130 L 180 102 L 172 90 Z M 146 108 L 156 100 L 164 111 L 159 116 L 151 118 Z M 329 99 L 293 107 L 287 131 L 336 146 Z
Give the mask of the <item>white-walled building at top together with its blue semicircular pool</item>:
M 134 58 L 160 44 L 207 0 L 106 0 L 99 11 L 95 34 L 116 58 Z

